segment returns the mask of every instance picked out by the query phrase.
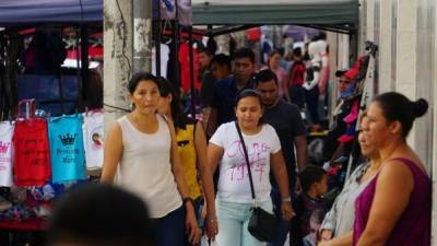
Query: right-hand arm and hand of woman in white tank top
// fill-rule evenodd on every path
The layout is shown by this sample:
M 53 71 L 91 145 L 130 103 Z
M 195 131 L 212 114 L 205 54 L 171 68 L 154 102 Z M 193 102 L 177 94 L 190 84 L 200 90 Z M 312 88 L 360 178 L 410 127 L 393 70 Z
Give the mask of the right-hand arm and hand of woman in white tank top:
M 172 162 L 172 171 L 175 176 L 176 185 L 179 190 L 180 196 L 185 198 L 189 198 L 188 185 L 185 179 L 185 174 L 182 169 L 182 163 L 180 161 L 180 155 L 178 151 L 178 147 L 176 143 L 176 131 L 170 119 L 166 119 L 168 129 L 172 134 L 172 148 L 170 148 L 170 162 Z M 198 222 L 196 219 L 194 204 L 192 202 L 184 203 L 187 218 L 186 218 L 186 229 L 190 243 L 198 243 L 200 239 L 200 235 L 198 233 Z

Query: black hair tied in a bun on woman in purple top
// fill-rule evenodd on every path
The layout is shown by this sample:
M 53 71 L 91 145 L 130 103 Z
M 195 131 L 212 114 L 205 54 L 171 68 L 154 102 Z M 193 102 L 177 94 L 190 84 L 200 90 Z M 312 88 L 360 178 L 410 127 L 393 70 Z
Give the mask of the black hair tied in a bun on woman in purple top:
M 428 109 L 428 102 L 426 99 L 420 98 L 411 102 L 406 96 L 397 92 L 378 95 L 374 102 L 377 102 L 382 108 L 383 116 L 388 121 L 401 122 L 403 139 L 409 136 L 414 119 L 425 115 Z

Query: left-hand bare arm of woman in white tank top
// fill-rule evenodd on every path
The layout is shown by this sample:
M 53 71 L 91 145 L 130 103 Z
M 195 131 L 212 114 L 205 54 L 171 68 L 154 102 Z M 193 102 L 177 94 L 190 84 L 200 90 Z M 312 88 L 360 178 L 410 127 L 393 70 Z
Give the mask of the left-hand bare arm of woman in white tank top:
M 114 122 L 105 138 L 103 156 L 102 183 L 113 183 L 116 176 L 118 163 L 122 156 L 122 132 L 118 122 Z

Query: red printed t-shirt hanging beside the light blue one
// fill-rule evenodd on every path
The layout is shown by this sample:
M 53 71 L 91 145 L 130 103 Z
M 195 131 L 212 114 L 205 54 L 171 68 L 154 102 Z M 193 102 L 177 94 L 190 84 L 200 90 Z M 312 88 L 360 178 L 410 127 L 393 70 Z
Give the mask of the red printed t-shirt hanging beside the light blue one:
M 50 151 L 47 121 L 31 119 L 15 124 L 14 184 L 16 186 L 42 186 L 51 178 Z

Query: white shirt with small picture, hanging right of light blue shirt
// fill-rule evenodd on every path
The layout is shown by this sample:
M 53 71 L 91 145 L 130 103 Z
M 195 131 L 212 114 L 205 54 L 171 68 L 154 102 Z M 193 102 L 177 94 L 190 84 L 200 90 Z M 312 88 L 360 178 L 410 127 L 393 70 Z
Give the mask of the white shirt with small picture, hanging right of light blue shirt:
M 83 141 L 87 169 L 99 169 L 103 165 L 104 117 L 102 110 L 83 114 Z

